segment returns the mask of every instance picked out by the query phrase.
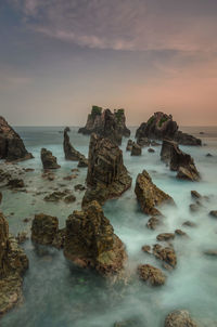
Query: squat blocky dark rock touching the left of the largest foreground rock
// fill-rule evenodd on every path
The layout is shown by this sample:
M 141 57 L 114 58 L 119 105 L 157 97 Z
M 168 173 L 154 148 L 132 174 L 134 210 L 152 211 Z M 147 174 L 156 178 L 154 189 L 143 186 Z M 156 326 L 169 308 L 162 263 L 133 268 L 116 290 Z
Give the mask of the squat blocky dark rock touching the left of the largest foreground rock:
M 40 245 L 63 248 L 65 230 L 59 230 L 56 217 L 44 213 L 36 214 L 31 224 L 31 240 Z

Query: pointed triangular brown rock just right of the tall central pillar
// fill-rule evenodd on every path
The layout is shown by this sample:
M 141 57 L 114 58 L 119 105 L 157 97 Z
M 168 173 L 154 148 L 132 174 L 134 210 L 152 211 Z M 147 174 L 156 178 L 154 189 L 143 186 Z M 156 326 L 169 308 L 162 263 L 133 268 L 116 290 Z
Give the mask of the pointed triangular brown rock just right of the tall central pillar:
M 142 211 L 146 214 L 159 215 L 161 212 L 155 206 L 163 204 L 174 205 L 173 198 L 153 184 L 151 176 L 145 170 L 137 176 L 135 193 Z

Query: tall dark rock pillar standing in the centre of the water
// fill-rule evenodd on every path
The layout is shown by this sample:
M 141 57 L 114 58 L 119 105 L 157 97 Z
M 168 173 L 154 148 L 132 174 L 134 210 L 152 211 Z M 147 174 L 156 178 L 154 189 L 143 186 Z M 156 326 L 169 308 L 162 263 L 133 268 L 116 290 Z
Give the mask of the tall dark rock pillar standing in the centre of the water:
M 88 189 L 82 206 L 120 196 L 131 186 L 131 178 L 123 162 L 123 152 L 108 139 L 92 134 L 89 145 Z

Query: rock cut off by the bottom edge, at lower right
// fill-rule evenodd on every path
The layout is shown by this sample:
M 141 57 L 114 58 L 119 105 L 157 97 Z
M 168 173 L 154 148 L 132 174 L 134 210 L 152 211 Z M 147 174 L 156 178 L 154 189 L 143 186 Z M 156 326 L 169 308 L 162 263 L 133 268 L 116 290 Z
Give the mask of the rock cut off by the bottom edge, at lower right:
M 188 311 L 177 310 L 167 315 L 165 327 L 197 327 Z

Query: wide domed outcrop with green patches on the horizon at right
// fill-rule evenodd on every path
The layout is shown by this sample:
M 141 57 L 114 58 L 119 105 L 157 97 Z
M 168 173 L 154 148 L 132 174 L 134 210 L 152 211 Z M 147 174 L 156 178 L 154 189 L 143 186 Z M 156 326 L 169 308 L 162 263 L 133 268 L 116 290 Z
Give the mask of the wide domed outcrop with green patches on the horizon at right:
M 201 145 L 201 140 L 178 130 L 178 125 L 171 115 L 157 112 L 146 121 L 142 122 L 136 132 L 137 142 L 142 145 L 143 140 L 170 139 L 182 145 Z

